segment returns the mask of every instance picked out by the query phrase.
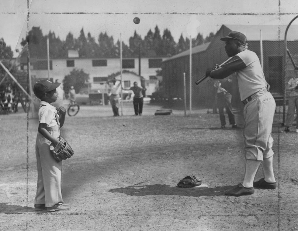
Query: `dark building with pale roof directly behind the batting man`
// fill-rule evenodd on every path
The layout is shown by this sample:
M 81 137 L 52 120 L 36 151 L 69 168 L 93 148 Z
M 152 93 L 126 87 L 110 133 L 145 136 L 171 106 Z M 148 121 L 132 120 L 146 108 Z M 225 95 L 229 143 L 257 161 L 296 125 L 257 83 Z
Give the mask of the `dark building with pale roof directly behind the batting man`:
M 192 105 L 211 107 L 214 103 L 213 79 L 206 79 L 199 85 L 208 67 L 226 60 L 224 42 L 220 38 L 230 31 L 239 31 L 247 36 L 248 49 L 263 60 L 266 81 L 276 99 L 283 94 L 284 35 L 287 25 L 222 25 L 210 43 L 192 48 Z M 263 59 L 261 59 L 260 38 L 262 35 Z M 287 47 L 298 64 L 298 25 L 291 25 L 287 34 Z M 162 62 L 164 96 L 168 99 L 183 98 L 183 72 L 186 73 L 187 102 L 189 102 L 189 50 L 174 55 Z M 287 57 L 286 81 L 294 76 L 294 67 Z

